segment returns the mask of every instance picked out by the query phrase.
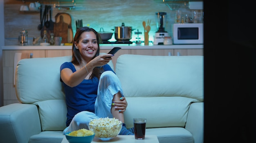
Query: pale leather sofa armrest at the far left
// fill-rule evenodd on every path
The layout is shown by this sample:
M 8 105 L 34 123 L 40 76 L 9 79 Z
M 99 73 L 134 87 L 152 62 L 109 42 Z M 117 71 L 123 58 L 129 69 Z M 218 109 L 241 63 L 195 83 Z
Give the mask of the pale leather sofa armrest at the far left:
M 14 103 L 0 107 L 0 143 L 27 143 L 41 132 L 37 106 Z

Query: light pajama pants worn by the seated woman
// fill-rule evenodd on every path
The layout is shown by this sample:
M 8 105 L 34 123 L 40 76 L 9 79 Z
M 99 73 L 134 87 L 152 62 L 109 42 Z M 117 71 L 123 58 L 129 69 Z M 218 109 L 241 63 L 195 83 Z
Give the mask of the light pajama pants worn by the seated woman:
M 123 90 L 121 88 L 120 80 L 117 78 L 117 75 L 112 71 L 106 71 L 101 74 L 99 79 L 98 86 L 98 95 L 95 101 L 95 114 L 88 111 L 82 111 L 77 113 L 72 121 L 70 126 L 63 130 L 63 134 L 67 132 L 72 132 L 74 130 L 79 130 L 85 128 L 89 130 L 88 124 L 91 119 L 109 117 L 113 118 L 111 114 L 111 106 L 113 96 L 120 91 L 122 97 Z

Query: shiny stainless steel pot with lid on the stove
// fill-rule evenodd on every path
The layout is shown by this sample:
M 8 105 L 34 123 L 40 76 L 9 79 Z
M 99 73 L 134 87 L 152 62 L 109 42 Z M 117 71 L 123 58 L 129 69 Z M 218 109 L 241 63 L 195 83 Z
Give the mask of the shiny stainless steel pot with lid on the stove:
M 130 26 L 124 26 L 124 23 L 122 23 L 122 26 L 116 26 L 115 29 L 112 29 L 115 32 L 115 39 L 117 41 L 129 41 L 132 39 L 132 27 Z

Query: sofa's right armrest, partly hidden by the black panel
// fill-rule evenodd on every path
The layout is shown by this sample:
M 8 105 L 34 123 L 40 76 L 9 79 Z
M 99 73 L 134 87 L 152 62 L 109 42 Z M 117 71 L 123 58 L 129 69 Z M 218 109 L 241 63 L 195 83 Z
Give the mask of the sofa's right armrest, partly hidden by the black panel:
M 190 105 L 185 128 L 193 134 L 194 143 L 204 142 L 204 102 Z

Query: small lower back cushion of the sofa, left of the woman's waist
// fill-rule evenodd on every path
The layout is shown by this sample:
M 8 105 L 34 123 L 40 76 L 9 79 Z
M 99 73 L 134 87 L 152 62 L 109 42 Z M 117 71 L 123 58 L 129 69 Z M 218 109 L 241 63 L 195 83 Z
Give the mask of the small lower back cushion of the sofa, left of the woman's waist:
M 67 120 L 65 100 L 46 100 L 34 103 L 38 106 L 42 130 L 64 130 Z

